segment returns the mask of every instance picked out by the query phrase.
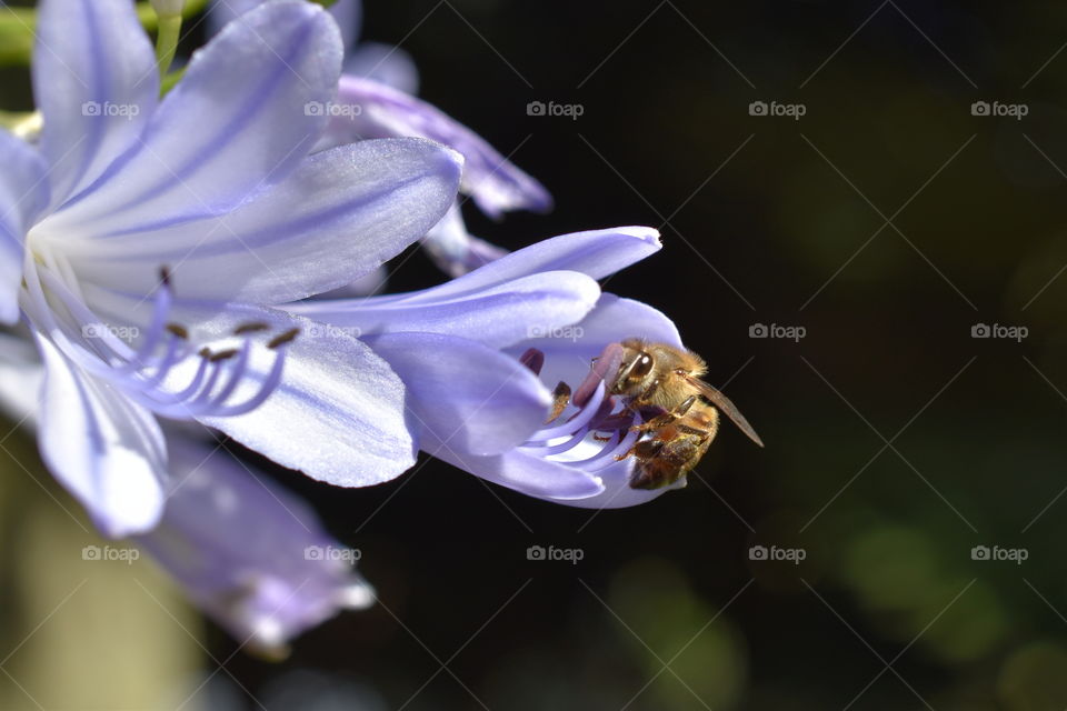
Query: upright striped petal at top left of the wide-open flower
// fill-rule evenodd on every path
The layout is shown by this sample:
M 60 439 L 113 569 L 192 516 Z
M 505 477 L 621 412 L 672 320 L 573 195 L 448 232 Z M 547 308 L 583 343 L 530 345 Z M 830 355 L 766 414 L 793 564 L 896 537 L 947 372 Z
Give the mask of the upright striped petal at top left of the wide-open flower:
M 53 204 L 134 146 L 156 109 L 159 72 L 128 0 L 42 0 L 33 93 Z

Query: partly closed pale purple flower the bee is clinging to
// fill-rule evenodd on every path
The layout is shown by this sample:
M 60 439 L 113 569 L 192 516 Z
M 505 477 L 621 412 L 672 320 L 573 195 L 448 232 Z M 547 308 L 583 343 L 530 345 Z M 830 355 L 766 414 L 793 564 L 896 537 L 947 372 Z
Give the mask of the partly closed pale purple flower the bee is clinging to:
M 290 310 L 357 329 L 389 361 L 408 388 L 412 429 L 428 453 L 539 499 L 635 505 L 664 492 L 631 489 L 634 459 L 615 459 L 637 439 L 629 431 L 636 415 L 616 417 L 609 439 L 597 439 L 621 403 L 594 382 L 580 399 L 576 392 L 580 407 L 551 424 L 546 420 L 557 383 L 577 391 L 609 344 L 637 337 L 681 347 L 667 317 L 601 293 L 595 281 L 659 248 L 651 228 L 566 234 L 423 291 L 308 301 Z M 483 373 L 498 372 L 526 383 L 526 401 L 509 409 L 506 399 L 493 397 Z M 486 410 L 490 417 L 481 427 L 459 424 L 483 419 Z

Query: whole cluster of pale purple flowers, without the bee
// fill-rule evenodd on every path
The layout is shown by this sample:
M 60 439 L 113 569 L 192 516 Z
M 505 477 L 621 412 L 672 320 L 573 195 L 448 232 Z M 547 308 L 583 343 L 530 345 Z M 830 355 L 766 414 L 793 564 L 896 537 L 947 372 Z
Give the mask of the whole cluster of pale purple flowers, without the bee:
M 661 493 L 627 485 L 627 427 L 595 437 L 616 405 L 602 384 L 546 424 L 556 383 L 585 381 L 606 346 L 680 347 L 664 314 L 597 282 L 658 233 L 512 253 L 470 236 L 460 196 L 492 217 L 551 198 L 411 96 L 402 52 L 355 44 L 357 3 L 222 4 L 160 99 L 131 3 L 42 0 L 43 128 L 0 132 L 0 320 L 21 324 L 0 342 L 0 397 L 100 531 L 136 537 L 269 650 L 373 593 L 349 561 L 309 555 L 336 545 L 313 514 L 206 432 L 343 487 L 422 450 L 569 505 Z M 373 290 L 417 242 L 450 281 L 335 298 Z

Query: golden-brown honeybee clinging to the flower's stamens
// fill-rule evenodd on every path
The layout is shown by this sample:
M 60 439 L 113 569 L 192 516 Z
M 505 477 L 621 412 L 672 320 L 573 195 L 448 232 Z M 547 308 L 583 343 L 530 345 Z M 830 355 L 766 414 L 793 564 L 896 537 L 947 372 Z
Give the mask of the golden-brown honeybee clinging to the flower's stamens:
M 707 365 L 699 356 L 637 338 L 621 346 L 622 358 L 610 393 L 627 398 L 630 410 L 652 414 L 634 428 L 651 437 L 642 437 L 617 458 L 637 459 L 630 488 L 658 489 L 685 477 L 715 439 L 720 411 L 750 440 L 764 445 L 734 403 L 700 380 Z

